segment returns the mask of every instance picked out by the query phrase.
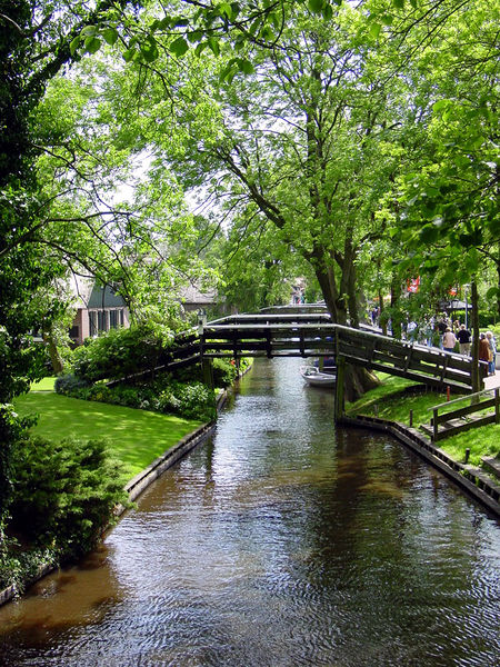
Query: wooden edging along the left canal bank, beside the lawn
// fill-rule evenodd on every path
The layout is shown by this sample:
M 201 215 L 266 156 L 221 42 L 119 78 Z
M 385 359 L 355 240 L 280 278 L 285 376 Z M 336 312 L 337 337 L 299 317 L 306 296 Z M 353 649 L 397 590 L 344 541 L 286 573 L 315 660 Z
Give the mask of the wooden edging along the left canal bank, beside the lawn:
M 224 405 L 228 398 L 228 392 L 222 391 L 217 398 L 217 411 L 219 411 Z M 129 494 L 129 500 L 136 500 L 143 490 L 146 490 L 156 479 L 160 477 L 162 472 L 164 472 L 168 468 L 173 466 L 179 459 L 186 456 L 191 449 L 194 449 L 197 445 L 200 445 L 204 441 L 213 430 L 216 429 L 216 421 L 209 421 L 207 424 L 201 425 L 192 432 L 184 436 L 177 445 L 164 451 L 160 457 L 158 457 L 152 464 L 150 464 L 147 468 L 141 470 L 136 477 L 132 477 L 130 481 L 127 482 L 124 490 Z M 126 508 L 123 506 L 119 506 L 116 510 L 117 516 L 121 516 Z M 106 530 L 104 530 L 106 532 Z M 40 580 L 46 575 L 49 575 L 51 571 L 56 570 L 59 566 L 53 564 L 46 564 L 40 567 L 37 575 L 24 583 L 26 588 L 32 586 L 38 580 Z M 13 599 L 19 594 L 18 587 L 16 584 L 9 586 L 4 590 L 0 590 L 0 607 L 6 603 Z

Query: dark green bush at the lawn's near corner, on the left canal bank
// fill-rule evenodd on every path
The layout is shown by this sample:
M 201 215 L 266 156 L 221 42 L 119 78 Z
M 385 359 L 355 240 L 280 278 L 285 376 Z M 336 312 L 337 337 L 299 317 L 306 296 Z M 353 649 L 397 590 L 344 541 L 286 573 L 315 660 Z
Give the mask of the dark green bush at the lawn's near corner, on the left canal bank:
M 12 481 L 13 529 L 64 559 L 92 549 L 114 507 L 128 504 L 123 467 L 106 440 L 28 438 L 18 444 Z

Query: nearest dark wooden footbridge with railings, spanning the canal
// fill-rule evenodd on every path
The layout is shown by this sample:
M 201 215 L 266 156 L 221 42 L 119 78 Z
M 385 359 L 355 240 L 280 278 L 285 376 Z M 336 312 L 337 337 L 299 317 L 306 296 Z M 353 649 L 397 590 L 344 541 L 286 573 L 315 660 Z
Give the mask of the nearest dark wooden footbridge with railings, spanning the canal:
M 221 357 L 334 357 L 338 384 L 347 362 L 429 387 L 472 391 L 469 357 L 397 340 L 369 327 L 334 325 L 327 312 L 261 312 L 201 321 L 198 330 L 176 338 L 162 369 Z

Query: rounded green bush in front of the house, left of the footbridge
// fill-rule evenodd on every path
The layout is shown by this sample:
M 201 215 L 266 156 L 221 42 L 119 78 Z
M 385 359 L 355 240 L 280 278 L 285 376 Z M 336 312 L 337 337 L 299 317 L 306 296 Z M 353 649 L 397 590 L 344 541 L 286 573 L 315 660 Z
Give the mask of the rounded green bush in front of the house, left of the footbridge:
M 119 379 L 159 366 L 171 331 L 154 325 L 111 329 L 74 350 L 73 372 L 87 382 Z

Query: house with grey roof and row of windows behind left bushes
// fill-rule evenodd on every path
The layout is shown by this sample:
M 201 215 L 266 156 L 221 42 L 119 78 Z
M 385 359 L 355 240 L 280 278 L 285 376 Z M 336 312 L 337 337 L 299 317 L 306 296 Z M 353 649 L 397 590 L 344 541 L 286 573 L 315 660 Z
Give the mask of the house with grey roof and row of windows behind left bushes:
M 93 279 L 72 276 L 70 289 L 77 309 L 70 329 L 70 338 L 74 345 L 82 345 L 89 336 L 130 326 L 129 309 L 112 287 L 101 287 Z

